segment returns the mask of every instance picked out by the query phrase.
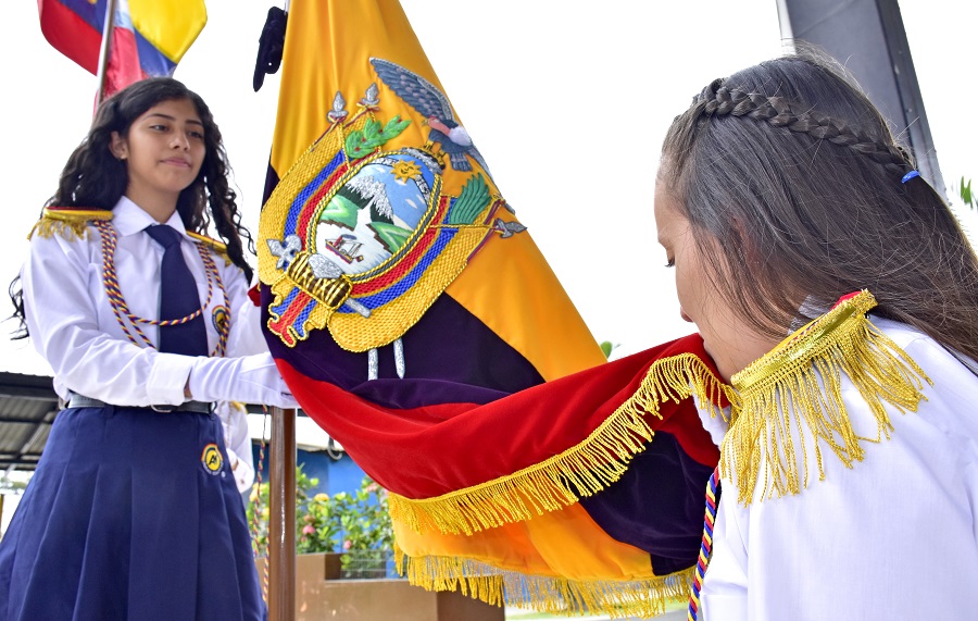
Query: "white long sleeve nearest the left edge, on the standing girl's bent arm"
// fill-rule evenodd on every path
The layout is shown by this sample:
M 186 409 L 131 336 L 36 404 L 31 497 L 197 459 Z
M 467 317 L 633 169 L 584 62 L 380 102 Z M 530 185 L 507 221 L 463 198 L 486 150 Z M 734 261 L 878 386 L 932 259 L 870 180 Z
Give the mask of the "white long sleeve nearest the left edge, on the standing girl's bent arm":
M 96 235 L 96 233 L 91 233 Z M 178 405 L 193 358 L 160 353 L 99 328 L 88 244 L 35 235 L 22 271 L 30 339 L 68 389 L 118 406 Z

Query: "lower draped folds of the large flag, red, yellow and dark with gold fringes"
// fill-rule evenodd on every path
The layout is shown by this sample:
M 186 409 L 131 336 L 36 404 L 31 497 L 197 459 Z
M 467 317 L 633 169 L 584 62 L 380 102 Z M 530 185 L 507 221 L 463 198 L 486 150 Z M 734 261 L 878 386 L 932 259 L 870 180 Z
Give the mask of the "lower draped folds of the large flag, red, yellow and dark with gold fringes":
M 384 407 L 278 363 L 390 492 L 414 584 L 551 612 L 649 616 L 686 596 L 719 457 L 692 396 L 726 405 L 699 335 L 485 405 Z

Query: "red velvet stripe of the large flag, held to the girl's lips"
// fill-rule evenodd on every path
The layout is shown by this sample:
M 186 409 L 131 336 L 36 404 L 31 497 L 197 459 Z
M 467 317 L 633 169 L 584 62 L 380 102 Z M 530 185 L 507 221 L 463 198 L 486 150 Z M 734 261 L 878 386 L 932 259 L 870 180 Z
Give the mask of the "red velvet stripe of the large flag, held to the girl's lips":
M 715 376 L 706 360 L 702 338 L 690 335 L 486 405 L 416 408 L 383 407 L 330 383 L 310 381 L 284 360 L 278 364 L 303 411 L 367 474 L 390 492 L 421 499 L 510 475 L 614 434 L 635 449 L 607 450 L 606 459 L 595 456 L 595 463 L 627 462 L 651 439 L 648 432 L 680 408 L 693 407 L 686 398 L 692 392 L 689 385 Z M 660 374 L 650 373 L 664 362 L 677 368 L 669 381 L 685 383 L 685 394 L 677 382 L 666 385 Z M 704 388 L 719 400 L 718 383 Z M 619 432 L 611 429 L 616 417 L 629 418 Z M 609 427 L 603 436 L 595 433 L 602 425 Z M 705 431 L 688 433 L 686 451 L 701 463 L 715 464 L 718 454 Z M 586 487 L 580 489 L 584 495 Z

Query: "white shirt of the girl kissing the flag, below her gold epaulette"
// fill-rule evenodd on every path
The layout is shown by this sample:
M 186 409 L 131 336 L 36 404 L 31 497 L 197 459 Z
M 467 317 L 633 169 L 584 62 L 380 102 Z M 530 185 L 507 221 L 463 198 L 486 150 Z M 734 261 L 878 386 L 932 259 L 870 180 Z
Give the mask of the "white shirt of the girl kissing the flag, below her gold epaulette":
M 926 400 L 916 413 L 887 406 L 891 439 L 862 443 L 851 470 L 822 445 L 825 481 L 805 429 L 797 496 L 762 500 L 758 486 L 744 507 L 724 479 L 701 621 L 974 618 L 953 603 L 978 581 L 978 377 L 921 333 L 873 323 L 933 381 Z M 844 374 L 842 396 L 856 433 L 876 438 Z

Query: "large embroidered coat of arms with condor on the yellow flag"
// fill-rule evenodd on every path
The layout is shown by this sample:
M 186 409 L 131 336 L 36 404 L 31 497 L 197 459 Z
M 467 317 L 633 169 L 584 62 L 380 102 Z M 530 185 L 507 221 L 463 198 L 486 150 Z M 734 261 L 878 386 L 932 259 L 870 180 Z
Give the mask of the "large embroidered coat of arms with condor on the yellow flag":
M 525 229 L 498 216 L 509 207 L 444 95 L 391 62 L 371 64 L 392 105 L 381 108 L 375 83 L 351 115 L 337 92 L 326 131 L 262 212 L 267 327 L 289 347 L 322 328 L 350 351 L 392 343 L 489 235 Z

